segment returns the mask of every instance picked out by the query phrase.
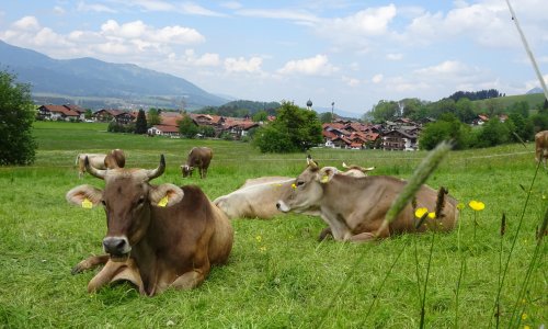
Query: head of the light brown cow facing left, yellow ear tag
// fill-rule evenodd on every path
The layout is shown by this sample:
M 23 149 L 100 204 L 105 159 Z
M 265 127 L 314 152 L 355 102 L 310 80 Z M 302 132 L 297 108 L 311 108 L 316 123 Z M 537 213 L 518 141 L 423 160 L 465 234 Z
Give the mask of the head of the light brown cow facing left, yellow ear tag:
M 317 211 L 323 196 L 322 185 L 329 183 L 333 175 L 339 172 L 334 167 L 320 169 L 313 160 L 307 159 L 307 168 L 295 180 L 293 193 L 276 203 L 276 207 L 281 212 Z

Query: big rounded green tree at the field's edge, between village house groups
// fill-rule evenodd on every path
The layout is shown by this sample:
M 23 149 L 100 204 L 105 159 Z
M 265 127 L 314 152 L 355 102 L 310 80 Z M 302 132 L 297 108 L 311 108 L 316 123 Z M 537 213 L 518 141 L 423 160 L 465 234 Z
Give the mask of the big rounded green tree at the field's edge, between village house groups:
M 283 102 L 276 120 L 259 128 L 253 145 L 262 152 L 305 151 L 322 141 L 317 113 Z

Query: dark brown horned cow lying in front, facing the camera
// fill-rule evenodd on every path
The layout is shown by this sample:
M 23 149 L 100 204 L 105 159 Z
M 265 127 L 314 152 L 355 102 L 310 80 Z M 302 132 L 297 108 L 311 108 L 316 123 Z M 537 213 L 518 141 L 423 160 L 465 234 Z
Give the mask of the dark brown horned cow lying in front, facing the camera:
M 103 204 L 103 248 L 110 256 L 91 257 L 75 268 L 81 272 L 106 261 L 88 291 L 118 280 L 130 281 L 148 296 L 168 287 L 192 288 L 206 279 L 212 264 L 227 261 L 233 230 L 204 192 L 198 186 L 149 183 L 163 173 L 163 156 L 153 170 L 99 170 L 89 161 L 85 169 L 105 181 L 104 190 L 80 185 L 66 197 L 84 207 Z

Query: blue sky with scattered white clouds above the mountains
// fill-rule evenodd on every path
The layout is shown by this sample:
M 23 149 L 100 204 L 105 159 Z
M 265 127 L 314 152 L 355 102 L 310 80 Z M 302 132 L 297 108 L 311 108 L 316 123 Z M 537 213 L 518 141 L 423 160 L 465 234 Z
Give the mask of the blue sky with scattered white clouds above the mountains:
M 548 1 L 511 0 L 545 80 Z M 208 92 L 363 114 L 379 100 L 538 87 L 505 0 L 9 0 L 0 39 L 94 57 Z

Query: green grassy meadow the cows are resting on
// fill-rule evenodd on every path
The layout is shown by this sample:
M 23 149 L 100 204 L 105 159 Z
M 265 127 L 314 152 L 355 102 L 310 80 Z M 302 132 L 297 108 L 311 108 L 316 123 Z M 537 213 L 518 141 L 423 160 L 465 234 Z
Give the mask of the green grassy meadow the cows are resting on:
M 81 259 L 102 252 L 105 215 L 102 208 L 69 205 L 65 194 L 79 184 L 102 188 L 104 183 L 89 174 L 78 179 L 77 154 L 122 148 L 126 167 L 139 168 L 158 166 L 163 154 L 167 171 L 153 183 L 197 184 L 212 200 L 236 190 L 248 178 L 296 177 L 306 166 L 305 154 L 261 155 L 243 143 L 149 138 L 105 131 L 103 124 L 36 123 L 36 162 L 0 167 L 0 327 L 315 328 L 320 319 L 324 328 L 419 326 L 416 273 L 424 280 L 430 234 L 365 245 L 318 242 L 322 220 L 296 214 L 271 220 L 232 220 L 236 236 L 229 263 L 214 268 L 196 290 L 168 291 L 149 298 L 138 295 L 129 284 L 119 284 L 88 294 L 87 284 L 95 272 L 71 275 L 70 270 Z M 181 175 L 179 166 L 193 146 L 214 149 L 206 180 Z M 375 166 L 373 174 L 400 178 L 409 178 L 426 155 L 321 148 L 310 154 L 320 166 L 341 168 L 343 161 Z M 532 185 L 535 169 L 533 144 L 509 145 L 450 152 L 431 175 L 429 185 L 444 185 L 464 204 L 477 200 L 486 208 L 473 213 L 466 207 L 459 231 L 435 236 L 426 292 L 427 328 L 494 327 L 500 249 L 502 246 L 504 263 L 522 213 L 523 225 L 501 292 L 501 325 L 509 325 L 516 302 L 523 308 L 520 328 L 547 325 L 546 242 L 524 297 L 516 299 L 535 250 L 535 230 L 547 207 L 548 173 L 540 169 L 524 212 L 525 191 Z M 507 224 L 501 243 L 503 213 Z M 476 240 L 475 216 L 479 223 Z M 466 272 L 458 290 L 457 314 L 461 258 L 466 259 Z

